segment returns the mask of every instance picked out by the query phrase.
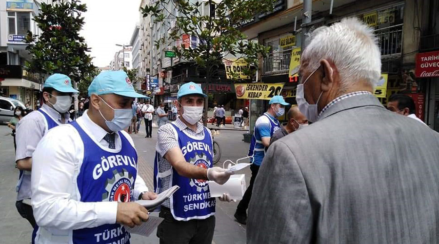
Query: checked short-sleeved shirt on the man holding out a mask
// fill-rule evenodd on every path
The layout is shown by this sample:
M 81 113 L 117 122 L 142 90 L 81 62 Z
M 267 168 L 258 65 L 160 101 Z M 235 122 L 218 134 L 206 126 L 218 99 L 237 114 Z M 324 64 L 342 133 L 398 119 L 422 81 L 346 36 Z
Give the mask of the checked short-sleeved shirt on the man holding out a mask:
M 183 123 L 180 120 L 180 117 L 177 117 L 177 120 L 172 122 L 174 125 L 176 125 L 180 131 L 185 130 L 186 134 L 188 134 L 191 137 L 194 138 L 200 138 L 202 139 L 204 137 L 204 125 L 200 122 L 197 122 L 197 130 L 193 131 L 191 128 L 189 128 L 185 123 Z M 207 129 L 210 136 L 212 137 L 212 134 L 209 129 Z M 213 140 L 212 140 L 213 141 Z M 180 147 L 179 145 L 179 139 L 176 137 L 176 133 L 174 130 L 174 127 L 168 123 L 160 127 L 159 131 L 157 132 L 157 145 L 156 145 L 156 151 L 160 154 L 159 159 L 159 172 L 165 172 L 169 169 L 171 169 L 171 163 L 167 161 L 164 158 L 164 155 L 172 148 L 174 147 Z M 171 181 L 172 175 L 166 176 L 162 178 L 162 187 L 160 188 L 160 192 L 169 189 L 170 181 Z M 164 203 L 162 203 L 162 206 L 170 207 L 170 201 L 169 199 L 166 200 Z

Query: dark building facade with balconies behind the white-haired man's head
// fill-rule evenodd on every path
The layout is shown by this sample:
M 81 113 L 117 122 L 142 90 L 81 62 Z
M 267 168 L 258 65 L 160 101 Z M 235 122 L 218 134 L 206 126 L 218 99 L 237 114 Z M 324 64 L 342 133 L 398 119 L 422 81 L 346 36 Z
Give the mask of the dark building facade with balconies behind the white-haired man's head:
M 373 28 L 381 50 L 382 74 L 387 77 L 386 87 L 377 89 L 375 95 L 384 105 L 393 93 L 412 96 L 417 103 L 417 116 L 433 128 L 433 119 L 428 121 L 424 109 L 428 105 L 425 103 L 426 94 L 431 84 L 417 79 L 414 71 L 415 57 L 420 49 L 420 30 L 423 29 L 423 21 L 432 21 L 427 14 L 429 9 L 436 9 L 433 12 L 437 14 L 437 1 L 425 1 L 421 6 L 416 0 L 342 0 L 334 1 L 331 10 L 330 6 L 327 1 L 312 1 L 311 28 L 331 25 L 345 17 L 357 17 Z M 279 0 L 273 12 L 256 16 L 240 27 L 250 40 L 270 47 L 267 57 L 259 61 L 259 81 L 284 83 L 282 95 L 291 104 L 296 104 L 298 79 L 290 77 L 290 62 L 293 50 L 301 45 L 302 15 L 302 0 Z M 266 101 L 251 101 L 251 124 L 267 107 Z

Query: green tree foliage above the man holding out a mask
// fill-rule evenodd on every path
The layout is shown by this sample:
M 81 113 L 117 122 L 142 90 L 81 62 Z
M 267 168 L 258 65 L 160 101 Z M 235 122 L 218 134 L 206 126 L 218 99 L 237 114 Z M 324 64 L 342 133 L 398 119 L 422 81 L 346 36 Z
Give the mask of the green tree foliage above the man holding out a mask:
M 210 14 L 200 13 L 203 2 L 210 6 Z M 156 41 L 156 46 L 170 41 L 181 41 L 181 35 L 197 37 L 196 47 L 173 47 L 176 56 L 193 61 L 206 70 L 209 81 L 218 67 L 229 57 L 244 58 L 258 67 L 259 56 L 266 56 L 268 48 L 257 41 L 248 41 L 239 26 L 253 20 L 260 13 L 273 10 L 276 0 L 157 0 L 141 8 L 143 17 L 150 15 L 155 23 L 169 27 L 168 36 Z M 176 11 L 174 11 L 176 10 Z M 175 13 L 179 14 L 175 14 Z M 175 24 L 174 24 L 175 23 Z M 249 71 L 248 71 L 249 72 Z

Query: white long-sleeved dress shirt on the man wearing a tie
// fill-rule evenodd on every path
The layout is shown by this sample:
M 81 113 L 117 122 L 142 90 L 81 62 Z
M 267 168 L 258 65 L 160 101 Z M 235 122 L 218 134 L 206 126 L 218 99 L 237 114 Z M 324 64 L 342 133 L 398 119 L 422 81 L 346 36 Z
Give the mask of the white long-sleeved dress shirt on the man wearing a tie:
M 88 110 L 76 121 L 90 138 L 109 152 L 121 150 L 121 139 L 115 137 L 115 149 L 103 140 L 108 133 L 92 122 Z M 131 137 L 122 134 L 134 147 Z M 59 125 L 50 130 L 38 144 L 32 163 L 32 206 L 40 228 L 38 243 L 69 243 L 73 229 L 115 224 L 117 202 L 80 202 L 77 177 L 83 160 L 84 144 L 72 125 Z M 143 179 L 136 177 L 133 195 L 148 191 Z M 64 238 L 63 238 L 64 237 Z

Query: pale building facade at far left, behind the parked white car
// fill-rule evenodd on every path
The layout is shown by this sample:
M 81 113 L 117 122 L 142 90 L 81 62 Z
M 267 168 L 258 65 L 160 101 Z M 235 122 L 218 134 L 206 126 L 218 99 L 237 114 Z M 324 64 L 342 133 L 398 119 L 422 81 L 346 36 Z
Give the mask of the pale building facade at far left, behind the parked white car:
M 20 100 L 35 107 L 43 78 L 24 68 L 31 59 L 24 38 L 27 31 L 40 35 L 33 20 L 41 2 L 52 0 L 0 0 L 0 96 Z

